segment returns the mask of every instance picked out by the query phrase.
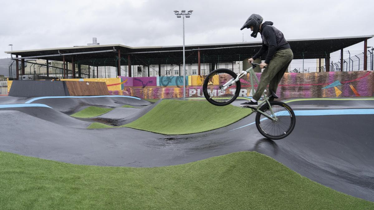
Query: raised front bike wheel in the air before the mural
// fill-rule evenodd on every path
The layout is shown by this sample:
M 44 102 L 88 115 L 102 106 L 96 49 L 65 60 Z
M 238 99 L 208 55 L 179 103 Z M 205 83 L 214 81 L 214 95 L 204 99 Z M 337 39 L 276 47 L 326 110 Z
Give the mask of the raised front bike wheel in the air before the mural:
M 233 71 L 224 68 L 210 72 L 203 83 L 203 93 L 206 100 L 216 106 L 226 106 L 235 101 L 239 96 L 240 81 L 226 90 L 221 90 L 221 87 L 236 77 L 237 75 Z

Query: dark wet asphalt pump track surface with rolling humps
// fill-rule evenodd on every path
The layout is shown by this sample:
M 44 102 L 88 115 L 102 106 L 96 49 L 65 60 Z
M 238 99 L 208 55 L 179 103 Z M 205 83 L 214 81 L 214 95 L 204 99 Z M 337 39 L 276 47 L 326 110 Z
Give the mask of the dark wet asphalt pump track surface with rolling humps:
M 1 96 L 0 107 L 29 100 Z M 239 103 L 236 101 L 233 105 Z M 272 141 L 257 131 L 254 114 L 213 131 L 170 136 L 125 127 L 85 129 L 98 118 L 128 123 L 155 106 L 144 100 L 49 98 L 29 104 L 51 108 L 0 108 L 1 151 L 73 164 L 131 167 L 176 165 L 237 151 L 257 151 L 322 185 L 374 201 L 373 114 L 350 111 L 349 115 L 298 115 L 291 135 Z M 142 108 L 120 108 L 124 104 Z M 374 109 L 374 100 L 291 101 L 288 104 L 297 111 L 331 110 L 331 113 Z M 68 116 L 88 106 L 115 109 L 89 120 Z

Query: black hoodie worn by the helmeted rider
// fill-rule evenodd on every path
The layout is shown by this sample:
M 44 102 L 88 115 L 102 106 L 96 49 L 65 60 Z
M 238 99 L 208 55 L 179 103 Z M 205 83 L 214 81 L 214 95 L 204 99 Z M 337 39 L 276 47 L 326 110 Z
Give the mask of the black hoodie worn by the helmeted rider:
M 278 50 L 291 48 L 285 40 L 283 33 L 273 26 L 273 22 L 266 21 L 261 26 L 262 47 L 252 58 L 259 58 L 267 51 L 265 63 L 269 64 Z

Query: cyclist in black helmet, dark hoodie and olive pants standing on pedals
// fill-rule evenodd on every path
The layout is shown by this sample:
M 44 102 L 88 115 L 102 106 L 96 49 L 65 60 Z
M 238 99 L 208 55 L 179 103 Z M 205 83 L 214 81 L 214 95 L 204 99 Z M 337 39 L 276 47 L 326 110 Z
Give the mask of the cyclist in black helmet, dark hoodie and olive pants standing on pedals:
M 248 59 L 252 63 L 255 59 L 260 58 L 267 52 L 266 59 L 260 64 L 260 68 L 266 67 L 262 74 L 260 84 L 258 84 L 255 95 L 251 100 L 240 104 L 240 106 L 257 107 L 257 101 L 261 98 L 261 94 L 269 84 L 269 90 L 277 91 L 278 84 L 281 81 L 283 74 L 291 63 L 294 54 L 291 47 L 285 40 L 283 33 L 273 26 L 273 22 L 266 21 L 262 23 L 263 18 L 260 15 L 252 14 L 249 16 L 245 24 L 240 30 L 244 28 L 251 28 L 251 37 L 256 38 L 257 33 L 260 32 L 262 38 L 261 49 L 252 58 Z M 271 94 L 268 91 L 268 96 Z M 269 101 L 274 100 L 273 98 Z

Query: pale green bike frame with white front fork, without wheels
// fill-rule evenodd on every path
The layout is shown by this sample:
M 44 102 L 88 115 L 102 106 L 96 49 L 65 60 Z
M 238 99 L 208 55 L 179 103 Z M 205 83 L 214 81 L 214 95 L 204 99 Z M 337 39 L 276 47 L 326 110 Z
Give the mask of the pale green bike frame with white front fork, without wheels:
M 234 79 L 232 78 L 230 81 L 228 81 L 227 83 L 225 83 L 224 85 L 220 86 L 220 89 L 221 90 L 226 90 L 227 88 L 229 88 L 230 86 L 232 86 L 233 84 L 235 84 L 237 81 L 240 80 L 240 78 L 244 77 L 245 75 L 249 74 L 249 77 L 251 78 L 251 86 L 252 86 L 252 95 L 255 94 L 255 87 L 254 87 L 254 83 L 253 83 L 253 78 L 255 78 L 255 81 L 256 83 L 260 83 L 260 81 L 258 81 L 258 78 L 253 70 L 253 68 L 256 66 L 256 65 L 260 65 L 260 64 L 252 64 L 252 67 L 245 70 L 245 71 L 242 71 L 240 74 L 237 74 L 237 77 Z M 265 117 L 269 118 L 270 120 L 273 120 L 273 121 L 278 121 L 278 118 L 276 117 L 276 115 L 274 114 L 274 111 L 272 109 L 272 106 L 270 106 L 270 102 L 269 102 L 269 97 L 266 96 L 265 94 L 265 91 L 263 92 L 263 96 L 264 96 L 264 99 L 263 101 L 261 101 L 257 108 L 256 108 L 256 111 L 257 112 L 260 112 L 261 114 L 263 114 Z M 260 111 L 259 107 L 261 107 L 261 105 L 263 104 L 269 104 L 269 109 L 270 109 L 270 112 L 272 112 L 272 115 L 269 115 L 269 114 L 266 114 L 265 112 L 263 111 Z M 252 108 L 254 109 L 254 108 Z

